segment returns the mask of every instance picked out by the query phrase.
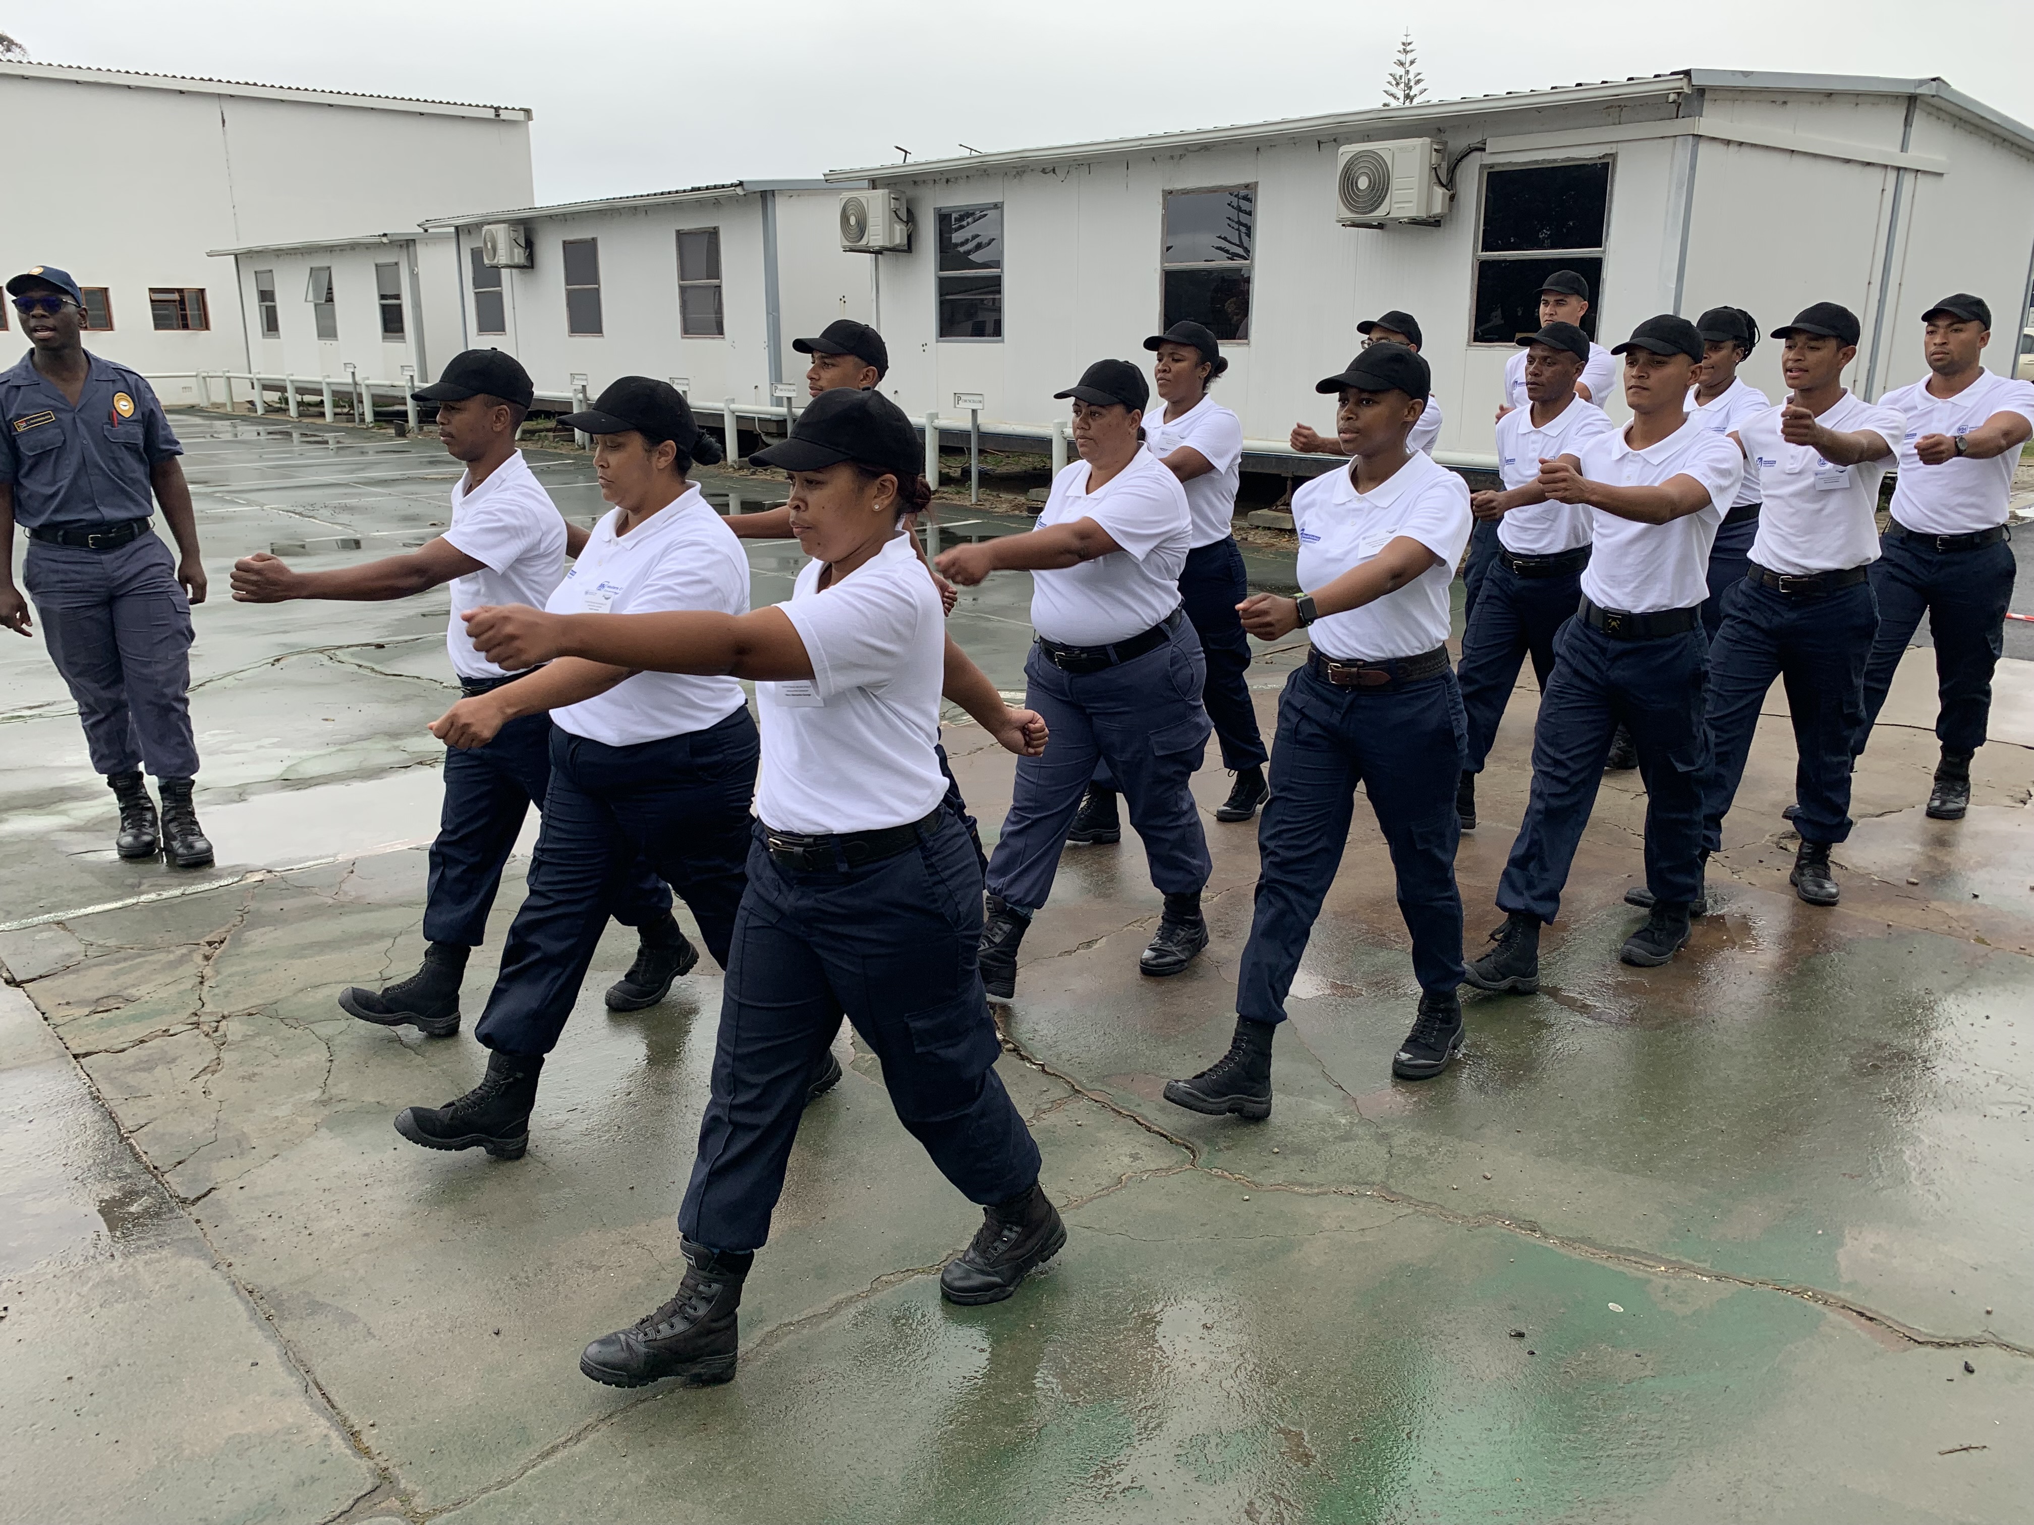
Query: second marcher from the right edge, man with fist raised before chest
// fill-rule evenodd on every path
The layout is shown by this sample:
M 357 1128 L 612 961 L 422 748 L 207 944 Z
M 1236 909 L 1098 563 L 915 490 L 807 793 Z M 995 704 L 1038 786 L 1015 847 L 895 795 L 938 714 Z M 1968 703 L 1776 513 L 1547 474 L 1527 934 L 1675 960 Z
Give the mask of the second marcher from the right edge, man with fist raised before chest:
M 1788 882 L 1808 905 L 1835 905 L 1843 895 L 1829 850 L 1851 834 L 1851 746 L 1865 724 L 1865 659 L 1879 628 L 1869 582 L 1879 555 L 1879 480 L 1906 431 L 1900 413 L 1843 386 L 1857 333 L 1857 315 L 1833 301 L 1774 329 L 1786 346 L 1780 374 L 1790 394 L 1733 433 L 1759 468 L 1759 531 L 1751 571 L 1725 594 L 1709 653 L 1715 765 L 1702 791 L 1702 852 L 1723 848 L 1723 817 L 1780 677 L 1798 752 L 1800 848 Z

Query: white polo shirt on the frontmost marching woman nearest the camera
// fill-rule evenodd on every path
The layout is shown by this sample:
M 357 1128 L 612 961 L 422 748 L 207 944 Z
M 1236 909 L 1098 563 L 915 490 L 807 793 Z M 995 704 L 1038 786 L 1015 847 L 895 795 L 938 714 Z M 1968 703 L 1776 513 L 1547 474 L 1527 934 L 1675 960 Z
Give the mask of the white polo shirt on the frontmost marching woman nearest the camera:
M 932 750 L 946 681 L 940 592 L 903 535 L 830 588 L 820 588 L 824 569 L 807 561 L 779 606 L 812 677 L 757 683 L 757 817 L 812 834 L 923 819 L 946 797 Z

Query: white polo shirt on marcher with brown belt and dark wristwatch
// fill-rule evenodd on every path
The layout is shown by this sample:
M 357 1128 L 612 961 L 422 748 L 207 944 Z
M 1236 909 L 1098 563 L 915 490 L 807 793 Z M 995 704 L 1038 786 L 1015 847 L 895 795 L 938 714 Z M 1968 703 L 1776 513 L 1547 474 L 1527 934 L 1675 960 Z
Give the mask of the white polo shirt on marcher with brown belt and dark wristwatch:
M 1357 492 L 1355 470 L 1355 462 L 1336 466 L 1294 488 L 1300 586 L 1326 588 L 1399 537 L 1420 541 L 1438 561 L 1363 608 L 1324 614 L 1306 632 L 1336 661 L 1420 657 L 1448 640 L 1448 584 L 1473 523 L 1469 484 L 1418 451 L 1373 492 Z

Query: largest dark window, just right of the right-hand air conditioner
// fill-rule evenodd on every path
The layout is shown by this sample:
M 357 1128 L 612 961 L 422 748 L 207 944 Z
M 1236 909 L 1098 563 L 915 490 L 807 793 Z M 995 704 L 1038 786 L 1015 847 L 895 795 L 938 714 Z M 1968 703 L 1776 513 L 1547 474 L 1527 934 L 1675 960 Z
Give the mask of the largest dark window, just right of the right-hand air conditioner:
M 1607 159 L 1485 171 L 1471 338 L 1477 344 L 1513 344 L 1538 333 L 1540 283 L 1554 270 L 1574 270 L 1589 283 L 1582 331 L 1595 338 L 1609 209 Z

